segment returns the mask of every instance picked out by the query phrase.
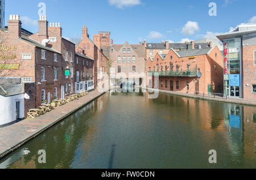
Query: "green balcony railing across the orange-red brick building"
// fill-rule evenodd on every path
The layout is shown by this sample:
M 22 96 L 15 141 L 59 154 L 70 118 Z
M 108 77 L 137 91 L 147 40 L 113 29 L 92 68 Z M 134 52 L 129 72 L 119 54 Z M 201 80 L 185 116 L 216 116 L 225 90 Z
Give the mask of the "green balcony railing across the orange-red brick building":
M 187 77 L 196 77 L 197 72 L 196 71 L 150 71 L 149 73 L 152 73 L 152 76 L 155 75 L 155 73 L 159 73 L 159 76 L 187 76 Z

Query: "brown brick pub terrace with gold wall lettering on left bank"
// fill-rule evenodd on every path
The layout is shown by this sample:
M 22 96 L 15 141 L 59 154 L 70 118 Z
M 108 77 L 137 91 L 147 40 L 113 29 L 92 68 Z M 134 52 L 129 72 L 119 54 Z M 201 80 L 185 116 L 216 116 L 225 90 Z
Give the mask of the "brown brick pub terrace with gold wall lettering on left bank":
M 0 76 L 19 77 L 29 97 L 24 100 L 24 108 L 19 108 L 24 109 L 24 113 L 8 123 L 25 118 L 28 109 L 72 95 L 76 92 L 77 80 L 82 82 L 79 91 L 94 88 L 90 82 L 93 76 L 84 81 L 77 78 L 83 77 L 82 74 L 89 76 L 93 59 L 76 53 L 75 44 L 62 37 L 60 23 L 49 23 L 48 27 L 46 16 L 40 16 L 38 25 L 39 31 L 30 33 L 22 29 L 19 15 L 10 15 L 8 27 L 0 29 Z M 77 66 L 86 61 L 90 66 L 86 63 Z

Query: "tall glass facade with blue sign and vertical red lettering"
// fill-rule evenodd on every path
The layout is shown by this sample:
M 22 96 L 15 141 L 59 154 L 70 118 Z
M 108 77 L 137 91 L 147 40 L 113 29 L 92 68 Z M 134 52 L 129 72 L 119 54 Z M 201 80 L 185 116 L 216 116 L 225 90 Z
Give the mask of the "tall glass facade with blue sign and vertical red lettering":
M 224 94 L 230 97 L 241 97 L 241 38 L 224 40 L 224 52 L 225 48 L 227 66 L 225 67 L 224 53 Z

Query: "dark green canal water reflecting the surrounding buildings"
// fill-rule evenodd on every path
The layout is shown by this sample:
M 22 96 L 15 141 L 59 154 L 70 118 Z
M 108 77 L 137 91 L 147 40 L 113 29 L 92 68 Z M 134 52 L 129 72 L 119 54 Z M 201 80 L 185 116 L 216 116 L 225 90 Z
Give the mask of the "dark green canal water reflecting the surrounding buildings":
M 255 127 L 253 106 L 109 92 L 2 158 L 0 168 L 256 168 Z

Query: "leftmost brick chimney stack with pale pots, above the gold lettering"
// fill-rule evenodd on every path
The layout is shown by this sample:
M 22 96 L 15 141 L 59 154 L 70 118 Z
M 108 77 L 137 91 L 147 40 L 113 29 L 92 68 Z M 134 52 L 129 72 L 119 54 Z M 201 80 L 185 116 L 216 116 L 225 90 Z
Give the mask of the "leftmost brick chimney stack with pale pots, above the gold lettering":
M 19 20 L 19 15 L 10 15 L 8 20 L 8 33 L 11 36 L 20 37 L 21 36 L 21 25 Z

